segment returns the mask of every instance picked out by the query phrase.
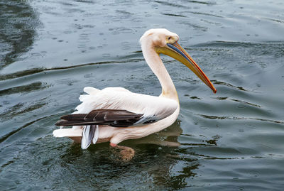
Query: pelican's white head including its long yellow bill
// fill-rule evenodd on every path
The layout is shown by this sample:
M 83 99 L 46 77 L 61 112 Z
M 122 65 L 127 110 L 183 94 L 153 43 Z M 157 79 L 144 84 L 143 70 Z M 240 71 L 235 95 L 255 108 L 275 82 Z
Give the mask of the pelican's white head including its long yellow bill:
M 160 53 L 168 55 L 175 60 L 182 62 L 186 65 L 192 72 L 197 75 L 197 77 L 202 80 L 207 86 L 212 89 L 214 93 L 217 89 L 210 82 L 209 78 L 204 74 L 201 68 L 197 65 L 195 60 L 183 49 L 179 44 L 179 36 L 176 33 L 172 33 L 165 28 L 154 28 L 146 31 L 140 38 L 142 50 L 150 49 L 155 50 L 155 53 Z M 144 55 L 147 60 L 147 55 Z M 149 63 L 148 63 L 149 64 Z M 151 67 L 151 64 L 149 64 Z

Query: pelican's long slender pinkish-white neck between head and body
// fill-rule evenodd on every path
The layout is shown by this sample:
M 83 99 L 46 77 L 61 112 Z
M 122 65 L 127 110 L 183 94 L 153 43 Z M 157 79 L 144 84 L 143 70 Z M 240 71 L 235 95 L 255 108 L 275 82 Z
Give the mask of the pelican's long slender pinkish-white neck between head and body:
M 175 89 L 175 85 L 173 84 L 173 80 L 170 78 L 170 75 L 165 69 L 165 65 L 160 59 L 158 53 L 155 52 L 152 45 L 142 44 L 141 48 L 147 64 L 160 81 L 162 86 L 161 96 L 175 99 L 178 102 L 178 93 Z

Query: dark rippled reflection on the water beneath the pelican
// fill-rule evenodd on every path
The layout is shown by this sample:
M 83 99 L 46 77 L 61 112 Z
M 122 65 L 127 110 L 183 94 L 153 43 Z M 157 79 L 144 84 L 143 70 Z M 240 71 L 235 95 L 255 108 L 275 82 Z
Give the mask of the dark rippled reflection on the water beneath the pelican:
M 146 185 L 157 189 L 181 189 L 188 186 L 187 179 L 196 175 L 194 170 L 200 165 L 196 155 L 188 158 L 187 148 L 179 147 L 178 137 L 181 133 L 178 120 L 158 133 L 124 141 L 124 146 L 136 151 L 136 155 L 128 162 L 117 158 L 114 150 L 109 149 L 108 143 L 91 145 L 87 152 L 80 148 L 79 143 L 73 143 L 61 155 L 61 166 L 67 167 L 65 173 L 72 175 L 75 174 L 70 169 L 84 172 L 80 175 L 92 179 L 95 184 L 111 178 L 114 182 L 124 184 L 133 184 L 139 180 L 139 185 L 146 182 Z

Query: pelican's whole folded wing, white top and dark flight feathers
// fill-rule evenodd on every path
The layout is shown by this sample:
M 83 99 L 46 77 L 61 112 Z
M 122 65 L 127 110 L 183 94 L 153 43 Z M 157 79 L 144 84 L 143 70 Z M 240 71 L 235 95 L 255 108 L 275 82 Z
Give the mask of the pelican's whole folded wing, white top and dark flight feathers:
M 84 89 L 89 94 L 80 97 L 82 104 L 74 114 L 62 116 L 58 126 L 109 125 L 114 127 L 141 126 L 154 123 L 173 114 L 178 102 L 129 92 L 124 88 L 102 91 Z

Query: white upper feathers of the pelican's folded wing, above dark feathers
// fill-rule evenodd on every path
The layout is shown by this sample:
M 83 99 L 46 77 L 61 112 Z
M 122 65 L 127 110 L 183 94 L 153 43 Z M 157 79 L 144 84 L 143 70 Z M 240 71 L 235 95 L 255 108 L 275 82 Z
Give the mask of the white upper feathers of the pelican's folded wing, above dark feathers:
M 87 114 L 95 109 L 125 109 L 133 113 L 143 114 L 136 126 L 145 121 L 164 119 L 178 108 L 178 102 L 165 97 L 155 97 L 146 94 L 136 94 L 122 87 L 107 87 L 99 91 L 85 87 L 80 96 L 82 104 L 76 107 L 78 114 Z

